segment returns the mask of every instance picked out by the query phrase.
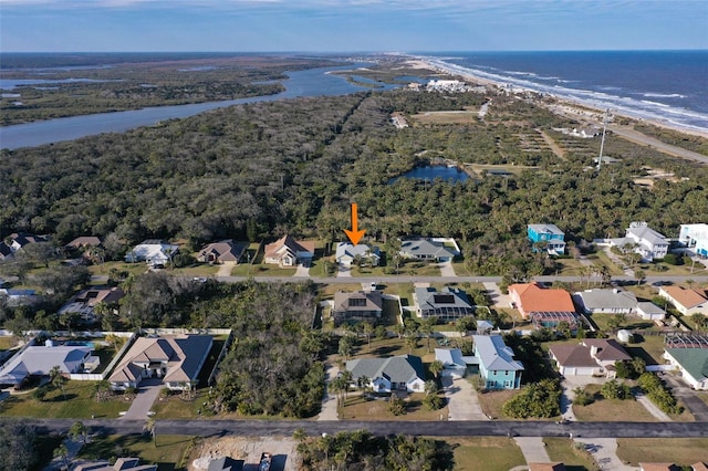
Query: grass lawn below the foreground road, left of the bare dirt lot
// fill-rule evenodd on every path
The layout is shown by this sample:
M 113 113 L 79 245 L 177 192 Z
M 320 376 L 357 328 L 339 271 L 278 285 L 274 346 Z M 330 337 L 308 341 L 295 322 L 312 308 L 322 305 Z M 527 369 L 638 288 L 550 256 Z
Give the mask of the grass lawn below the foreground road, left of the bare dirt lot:
M 189 436 L 158 433 L 155 447 L 149 436 L 108 436 L 85 444 L 79 457 L 87 460 L 107 459 L 112 456 L 139 457 L 142 463 L 155 463 L 159 471 L 186 470 L 186 457 L 196 440 Z

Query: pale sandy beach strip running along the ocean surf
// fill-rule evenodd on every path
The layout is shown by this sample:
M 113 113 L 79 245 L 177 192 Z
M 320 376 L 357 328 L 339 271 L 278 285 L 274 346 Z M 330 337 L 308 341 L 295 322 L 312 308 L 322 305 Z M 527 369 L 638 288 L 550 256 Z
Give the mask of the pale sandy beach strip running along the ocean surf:
M 479 85 L 493 87 L 498 91 L 503 90 L 503 91 L 510 91 L 511 93 L 523 93 L 523 92 L 539 93 L 534 90 L 524 88 L 519 85 L 513 85 L 512 87 L 509 87 L 508 84 L 496 82 L 486 77 L 480 77 L 478 75 L 469 73 L 468 71 L 462 70 L 462 67 L 444 64 L 438 61 L 415 59 L 415 60 L 407 61 L 406 65 L 413 69 L 427 69 L 427 70 L 436 71 L 446 75 L 450 75 L 450 76 L 461 76 L 465 81 L 472 82 Z M 549 96 L 552 96 L 553 98 L 555 98 L 554 104 L 548 104 L 549 108 L 553 113 L 563 114 L 565 116 L 573 117 L 579 121 L 589 122 L 591 124 L 594 124 L 595 126 L 602 126 L 605 109 L 597 107 L 597 105 L 580 102 L 576 100 L 569 100 L 566 97 L 561 97 L 556 95 L 549 95 Z M 633 123 L 645 123 L 648 125 L 663 127 L 671 130 L 677 130 L 679 133 L 699 136 L 708 139 L 708 129 L 687 128 L 687 127 L 674 125 L 671 123 L 665 123 L 662 121 L 641 118 L 614 108 L 612 109 L 612 114 L 617 117 L 629 119 Z M 618 128 L 618 126 L 610 125 L 608 128 Z

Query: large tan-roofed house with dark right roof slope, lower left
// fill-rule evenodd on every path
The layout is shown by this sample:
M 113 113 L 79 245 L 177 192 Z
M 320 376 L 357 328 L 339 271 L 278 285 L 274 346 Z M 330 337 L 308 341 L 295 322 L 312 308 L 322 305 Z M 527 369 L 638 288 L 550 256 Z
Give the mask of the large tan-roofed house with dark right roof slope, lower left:
M 136 388 L 143 379 L 153 377 L 162 378 L 171 390 L 196 386 L 211 344 L 210 335 L 139 337 L 113 370 L 111 387 Z

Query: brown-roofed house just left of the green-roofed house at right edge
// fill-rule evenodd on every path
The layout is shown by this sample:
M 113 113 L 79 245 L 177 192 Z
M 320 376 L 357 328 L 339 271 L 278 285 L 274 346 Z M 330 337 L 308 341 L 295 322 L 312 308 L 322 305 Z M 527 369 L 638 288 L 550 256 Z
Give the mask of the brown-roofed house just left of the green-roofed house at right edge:
M 632 359 L 614 339 L 585 338 L 580 345 L 552 345 L 551 358 L 563 376 L 616 376 L 615 363 Z

